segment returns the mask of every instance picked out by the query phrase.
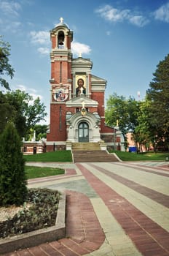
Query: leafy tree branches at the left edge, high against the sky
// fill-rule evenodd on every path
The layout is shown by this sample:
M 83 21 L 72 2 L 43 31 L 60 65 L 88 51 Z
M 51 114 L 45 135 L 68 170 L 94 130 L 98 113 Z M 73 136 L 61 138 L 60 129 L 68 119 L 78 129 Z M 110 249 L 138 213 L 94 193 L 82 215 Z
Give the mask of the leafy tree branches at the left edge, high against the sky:
M 9 64 L 9 51 L 9 42 L 4 42 L 2 40 L 2 36 L 0 36 L 0 75 L 9 75 L 9 77 L 12 79 L 15 70 Z M 0 84 L 5 89 L 9 90 L 9 83 L 7 83 L 7 80 L 0 77 Z

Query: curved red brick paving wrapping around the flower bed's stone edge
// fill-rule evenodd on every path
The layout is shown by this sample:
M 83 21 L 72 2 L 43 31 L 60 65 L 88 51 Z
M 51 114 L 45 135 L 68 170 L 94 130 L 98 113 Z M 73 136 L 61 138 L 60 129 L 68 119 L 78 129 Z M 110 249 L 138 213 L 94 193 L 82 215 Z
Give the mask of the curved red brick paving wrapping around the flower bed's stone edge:
M 76 256 L 98 249 L 105 239 L 90 199 L 82 193 L 67 191 L 66 238 L 4 256 Z

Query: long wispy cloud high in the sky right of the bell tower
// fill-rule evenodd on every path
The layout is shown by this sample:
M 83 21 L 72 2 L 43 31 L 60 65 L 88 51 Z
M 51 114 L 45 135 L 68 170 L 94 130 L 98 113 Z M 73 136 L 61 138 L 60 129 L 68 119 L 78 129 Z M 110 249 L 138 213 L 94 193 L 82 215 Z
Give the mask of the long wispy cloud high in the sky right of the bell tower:
M 132 14 L 131 10 L 118 10 L 114 7 L 111 7 L 111 5 L 109 4 L 106 4 L 104 7 L 98 8 L 97 10 L 95 10 L 95 12 L 98 13 L 105 20 L 109 20 L 114 23 L 127 20 L 135 26 L 145 26 L 146 23 L 149 22 L 149 20 L 147 20 L 142 15 Z

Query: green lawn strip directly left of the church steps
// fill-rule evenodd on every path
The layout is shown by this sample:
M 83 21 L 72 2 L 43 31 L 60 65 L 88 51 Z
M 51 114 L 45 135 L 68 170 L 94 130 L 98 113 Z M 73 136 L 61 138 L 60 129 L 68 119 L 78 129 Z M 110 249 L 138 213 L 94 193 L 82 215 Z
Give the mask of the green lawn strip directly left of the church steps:
M 71 151 L 69 150 L 24 155 L 24 159 L 26 162 L 72 162 Z

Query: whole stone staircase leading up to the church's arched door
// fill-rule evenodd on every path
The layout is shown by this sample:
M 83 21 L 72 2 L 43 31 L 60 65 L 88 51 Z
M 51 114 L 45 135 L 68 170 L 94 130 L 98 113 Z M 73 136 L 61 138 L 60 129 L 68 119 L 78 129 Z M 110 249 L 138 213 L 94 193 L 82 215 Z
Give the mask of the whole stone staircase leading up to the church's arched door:
M 72 143 L 74 162 L 119 162 L 114 154 L 101 150 L 99 143 Z

